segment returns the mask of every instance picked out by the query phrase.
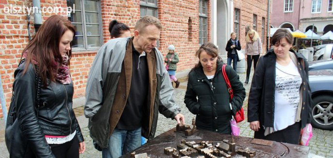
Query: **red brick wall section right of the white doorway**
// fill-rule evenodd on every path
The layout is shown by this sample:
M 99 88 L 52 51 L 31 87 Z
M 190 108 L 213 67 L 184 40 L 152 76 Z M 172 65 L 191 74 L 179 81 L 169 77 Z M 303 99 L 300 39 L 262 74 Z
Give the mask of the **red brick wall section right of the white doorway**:
M 240 9 L 240 32 L 239 40 L 242 49 L 245 49 L 245 27 L 249 25 L 253 29 L 253 14 L 257 15 L 257 32 L 261 38 L 262 17 L 265 17 L 265 37 L 262 50 L 266 52 L 266 36 L 267 36 L 267 3 L 268 0 L 234 0 L 234 8 Z M 272 2 L 271 2 L 272 4 Z

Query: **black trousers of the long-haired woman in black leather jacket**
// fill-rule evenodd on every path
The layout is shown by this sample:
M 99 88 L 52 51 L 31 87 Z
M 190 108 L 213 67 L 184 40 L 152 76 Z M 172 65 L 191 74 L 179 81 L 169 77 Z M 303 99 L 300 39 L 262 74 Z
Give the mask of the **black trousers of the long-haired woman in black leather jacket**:
M 79 158 L 77 136 L 64 144 L 49 144 L 56 158 Z

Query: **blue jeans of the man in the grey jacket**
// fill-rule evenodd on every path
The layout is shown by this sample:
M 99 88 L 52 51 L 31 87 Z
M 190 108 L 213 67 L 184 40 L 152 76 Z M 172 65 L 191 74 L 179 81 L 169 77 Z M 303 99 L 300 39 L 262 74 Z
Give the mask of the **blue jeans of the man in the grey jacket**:
M 134 130 L 114 129 L 102 158 L 119 158 L 141 146 L 141 127 Z

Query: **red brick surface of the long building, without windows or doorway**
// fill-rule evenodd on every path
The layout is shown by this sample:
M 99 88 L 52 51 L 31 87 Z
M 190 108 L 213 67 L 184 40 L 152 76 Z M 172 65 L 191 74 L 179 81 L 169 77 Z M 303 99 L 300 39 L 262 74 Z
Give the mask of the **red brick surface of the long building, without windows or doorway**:
M 140 0 L 100 0 L 100 4 L 104 43 L 110 40 L 108 24 L 113 19 L 127 24 L 131 31 L 134 31 L 135 23 L 140 18 Z M 27 13 L 6 12 L 5 7 L 11 5 L 32 7 L 32 0 L 0 0 L 0 75 L 7 109 L 12 96 L 14 71 L 22 50 L 29 42 Z M 208 0 L 207 36 L 209 41 L 212 38 L 211 6 L 212 0 Z M 65 8 L 67 2 L 66 0 L 41 0 L 41 7 Z M 157 7 L 158 18 L 164 26 L 158 49 L 165 56 L 167 46 L 175 45 L 180 57 L 177 71 L 190 69 L 197 62 L 194 53 L 198 48 L 199 38 L 199 0 L 157 0 Z M 240 37 L 245 37 L 245 25 L 252 25 L 253 14 L 257 14 L 257 26 L 261 26 L 261 17 L 267 16 L 267 0 L 234 0 L 234 7 L 241 10 Z M 66 15 L 65 13 L 58 14 Z M 52 13 L 42 13 L 43 21 L 51 15 Z M 33 21 L 33 14 L 31 14 L 29 33 L 32 37 L 35 34 Z M 261 35 L 261 27 L 257 28 Z M 241 42 L 244 48 L 244 40 Z M 85 95 L 88 73 L 96 52 L 97 50 L 73 52 L 70 68 L 75 88 L 74 98 Z M 0 117 L 2 117 L 2 109 L 0 109 Z

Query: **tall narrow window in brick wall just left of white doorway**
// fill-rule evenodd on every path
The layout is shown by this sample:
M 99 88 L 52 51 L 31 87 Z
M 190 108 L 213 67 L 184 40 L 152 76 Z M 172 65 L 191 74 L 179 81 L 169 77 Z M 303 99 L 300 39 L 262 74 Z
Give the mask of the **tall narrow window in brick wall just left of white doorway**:
M 199 44 L 207 42 L 207 0 L 199 0 Z

